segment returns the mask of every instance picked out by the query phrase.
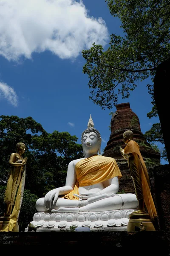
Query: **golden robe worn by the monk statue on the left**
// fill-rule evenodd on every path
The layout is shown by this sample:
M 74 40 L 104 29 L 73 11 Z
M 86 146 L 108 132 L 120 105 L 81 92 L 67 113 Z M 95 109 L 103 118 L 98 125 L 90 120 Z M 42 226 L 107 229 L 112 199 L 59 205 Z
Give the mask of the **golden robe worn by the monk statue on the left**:
M 23 160 L 23 157 L 17 154 L 15 163 L 22 163 L 22 160 Z M 8 175 L 8 183 L 6 187 L 4 201 L 6 202 L 6 204 L 14 205 L 14 207 L 10 215 L 8 226 L 4 230 L 0 230 L 2 232 L 12 231 L 18 221 L 20 208 L 23 201 L 25 177 L 26 177 L 25 165 L 15 166 L 15 167 L 11 166 L 11 169 Z M 17 196 L 16 196 L 16 192 L 17 192 Z

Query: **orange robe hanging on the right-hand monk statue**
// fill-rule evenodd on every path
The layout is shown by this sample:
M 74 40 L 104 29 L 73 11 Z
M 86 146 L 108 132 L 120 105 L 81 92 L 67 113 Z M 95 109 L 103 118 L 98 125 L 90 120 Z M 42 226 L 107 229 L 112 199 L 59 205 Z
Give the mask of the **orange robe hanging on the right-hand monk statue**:
M 144 200 L 150 218 L 154 218 L 157 216 L 157 213 L 152 195 L 150 193 L 149 175 L 147 173 L 147 168 L 142 155 L 139 151 L 138 143 L 136 143 L 134 140 L 130 140 L 126 145 L 124 152 L 125 154 L 133 154 L 127 159 L 127 161 L 130 175 L 133 179 L 133 184 L 135 187 L 136 198 L 138 200 Z

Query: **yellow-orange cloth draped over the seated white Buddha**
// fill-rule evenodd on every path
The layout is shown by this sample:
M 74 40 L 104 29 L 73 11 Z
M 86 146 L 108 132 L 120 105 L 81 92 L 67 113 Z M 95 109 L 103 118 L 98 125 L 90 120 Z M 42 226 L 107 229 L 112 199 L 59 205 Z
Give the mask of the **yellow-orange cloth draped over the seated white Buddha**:
M 101 155 L 94 155 L 80 160 L 75 165 L 75 171 L 77 175 L 76 185 L 64 198 L 79 200 L 79 198 L 73 194 L 79 195 L 80 186 L 94 185 L 116 176 L 118 176 L 118 179 L 122 177 L 116 161 L 112 157 L 104 157 Z

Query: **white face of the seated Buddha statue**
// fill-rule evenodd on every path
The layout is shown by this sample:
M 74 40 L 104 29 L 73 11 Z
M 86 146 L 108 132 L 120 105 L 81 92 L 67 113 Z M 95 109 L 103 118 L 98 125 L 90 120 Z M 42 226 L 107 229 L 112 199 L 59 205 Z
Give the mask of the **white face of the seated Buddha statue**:
M 97 154 L 100 147 L 100 141 L 95 132 L 83 134 L 82 147 L 85 154 Z

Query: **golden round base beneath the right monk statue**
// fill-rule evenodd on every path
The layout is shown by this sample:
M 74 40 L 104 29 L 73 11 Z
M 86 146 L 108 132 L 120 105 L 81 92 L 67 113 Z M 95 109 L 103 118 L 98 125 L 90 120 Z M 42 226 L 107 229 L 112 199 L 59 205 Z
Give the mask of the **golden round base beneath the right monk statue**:
M 136 231 L 156 231 L 150 215 L 145 212 L 132 212 L 129 215 L 129 222 L 127 224 L 127 232 Z

